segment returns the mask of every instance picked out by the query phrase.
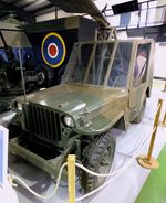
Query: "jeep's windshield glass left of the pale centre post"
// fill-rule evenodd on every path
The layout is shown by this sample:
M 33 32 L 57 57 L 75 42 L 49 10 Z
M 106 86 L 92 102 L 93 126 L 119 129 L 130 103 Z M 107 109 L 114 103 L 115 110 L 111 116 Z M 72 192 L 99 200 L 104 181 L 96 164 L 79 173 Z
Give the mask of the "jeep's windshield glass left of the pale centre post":
M 63 82 L 103 85 L 114 43 L 76 43 L 73 47 Z

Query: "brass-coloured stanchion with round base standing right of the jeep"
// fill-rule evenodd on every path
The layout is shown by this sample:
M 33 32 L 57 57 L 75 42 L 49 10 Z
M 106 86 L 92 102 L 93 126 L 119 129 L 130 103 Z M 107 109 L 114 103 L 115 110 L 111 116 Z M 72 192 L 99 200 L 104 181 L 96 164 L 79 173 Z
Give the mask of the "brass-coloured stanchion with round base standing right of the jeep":
M 163 100 L 159 99 L 158 105 L 157 105 L 158 109 L 157 109 L 157 113 L 155 116 L 155 121 L 154 121 L 154 127 L 153 127 L 154 131 L 153 131 L 153 135 L 151 138 L 149 148 L 148 148 L 148 153 L 147 153 L 147 156 L 141 156 L 137 159 L 138 163 L 146 169 L 157 169 L 159 167 L 159 162 L 152 157 L 152 152 L 153 152 L 156 132 L 157 132 L 157 127 L 158 127 L 158 122 L 159 122 L 162 105 L 163 105 Z

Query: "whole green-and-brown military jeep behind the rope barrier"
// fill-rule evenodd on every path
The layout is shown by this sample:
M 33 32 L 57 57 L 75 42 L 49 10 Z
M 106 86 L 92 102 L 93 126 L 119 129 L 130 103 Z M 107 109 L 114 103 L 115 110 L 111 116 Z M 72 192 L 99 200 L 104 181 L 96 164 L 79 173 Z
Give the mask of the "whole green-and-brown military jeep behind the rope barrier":
M 69 153 L 92 171 L 108 173 L 115 152 L 110 130 L 142 121 L 153 53 L 152 40 L 75 43 L 61 85 L 14 100 L 10 151 L 54 177 Z M 79 175 L 85 192 L 105 180 Z

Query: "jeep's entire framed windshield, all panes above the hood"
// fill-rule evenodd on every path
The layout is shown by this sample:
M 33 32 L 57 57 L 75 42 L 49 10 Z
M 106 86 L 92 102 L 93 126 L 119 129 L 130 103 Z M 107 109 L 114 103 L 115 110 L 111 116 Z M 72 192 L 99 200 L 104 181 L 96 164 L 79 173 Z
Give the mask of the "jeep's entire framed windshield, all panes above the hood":
M 125 88 L 132 49 L 128 41 L 75 43 L 63 83 Z

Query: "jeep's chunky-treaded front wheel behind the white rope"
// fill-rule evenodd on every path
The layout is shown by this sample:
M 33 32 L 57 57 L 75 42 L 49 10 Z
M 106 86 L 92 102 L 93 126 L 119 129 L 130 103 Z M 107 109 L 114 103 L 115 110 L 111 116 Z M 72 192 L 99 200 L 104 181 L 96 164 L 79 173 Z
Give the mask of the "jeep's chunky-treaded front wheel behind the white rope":
M 97 173 L 108 173 L 115 153 L 115 139 L 110 135 L 102 135 L 84 148 L 82 163 Z M 107 159 L 106 159 L 106 158 Z M 101 171 L 103 164 L 104 171 Z M 84 192 L 91 192 L 104 183 L 106 178 L 98 178 L 82 171 L 81 184 Z

